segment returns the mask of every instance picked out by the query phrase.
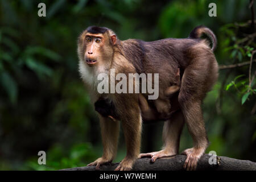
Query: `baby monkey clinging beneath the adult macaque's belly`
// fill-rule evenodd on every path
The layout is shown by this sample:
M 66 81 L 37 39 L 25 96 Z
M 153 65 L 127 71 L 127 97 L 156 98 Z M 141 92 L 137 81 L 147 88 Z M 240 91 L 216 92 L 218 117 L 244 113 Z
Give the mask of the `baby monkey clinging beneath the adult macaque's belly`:
M 171 117 L 171 104 L 170 98 L 177 93 L 180 89 L 180 69 L 177 69 L 176 82 L 164 90 L 164 94 L 159 96 L 157 100 L 148 103 L 146 98 L 139 94 L 139 106 L 141 108 L 142 120 L 145 121 L 158 121 L 167 120 Z M 109 117 L 113 121 L 119 120 L 115 112 L 115 106 L 108 98 L 100 97 L 94 103 L 95 110 L 102 115 L 102 117 Z

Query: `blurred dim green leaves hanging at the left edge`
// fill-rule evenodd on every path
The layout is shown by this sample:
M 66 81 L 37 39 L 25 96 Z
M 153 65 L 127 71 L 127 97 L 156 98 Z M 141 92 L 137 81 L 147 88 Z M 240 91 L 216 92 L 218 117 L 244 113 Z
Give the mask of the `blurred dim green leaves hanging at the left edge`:
M 14 77 L 22 75 L 24 67 L 30 68 L 40 78 L 49 77 L 52 75 L 52 69 L 36 60 L 35 57 L 45 56 L 49 60 L 57 61 L 60 56 L 40 46 L 27 46 L 21 49 L 18 44 L 19 32 L 14 28 L 2 27 L 0 35 L 0 84 L 5 88 L 10 102 L 16 104 L 18 85 Z

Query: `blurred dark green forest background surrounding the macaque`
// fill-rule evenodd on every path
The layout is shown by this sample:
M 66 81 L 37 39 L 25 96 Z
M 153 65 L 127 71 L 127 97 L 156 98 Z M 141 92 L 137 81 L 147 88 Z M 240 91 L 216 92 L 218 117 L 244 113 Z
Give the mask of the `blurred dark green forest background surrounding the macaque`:
M 38 16 L 40 2 L 46 3 L 46 17 Z M 210 2 L 217 4 L 217 17 L 208 16 Z M 204 24 L 217 36 L 218 63 L 233 64 L 236 56 L 226 48 L 242 33 L 232 34 L 228 28 L 251 19 L 248 6 L 247 0 L 0 0 L 0 169 L 70 168 L 101 156 L 98 118 L 77 71 L 77 37 L 86 27 L 109 27 L 121 40 L 151 41 L 185 38 Z M 255 48 L 254 42 L 251 45 Z M 250 60 L 246 55 L 238 58 Z M 242 94 L 234 86 L 225 90 L 238 75 L 248 79 L 248 69 L 220 70 L 203 110 L 210 140 L 207 152 L 255 162 L 255 94 L 242 105 Z M 162 126 L 143 125 L 142 152 L 160 150 Z M 180 152 L 188 147 L 192 139 L 185 128 Z M 38 164 L 41 150 L 46 151 L 47 165 Z M 121 132 L 114 162 L 125 152 Z

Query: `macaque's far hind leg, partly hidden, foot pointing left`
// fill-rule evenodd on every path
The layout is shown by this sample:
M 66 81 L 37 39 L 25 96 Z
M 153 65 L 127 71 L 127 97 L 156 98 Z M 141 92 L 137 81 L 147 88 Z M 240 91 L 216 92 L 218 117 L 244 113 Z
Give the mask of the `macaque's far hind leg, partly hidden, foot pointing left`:
M 184 119 L 181 111 L 174 113 L 163 126 L 163 149 L 157 152 L 140 154 L 139 158 L 151 158 L 154 163 L 156 159 L 167 158 L 177 155 L 179 152 L 180 134 L 184 126 Z

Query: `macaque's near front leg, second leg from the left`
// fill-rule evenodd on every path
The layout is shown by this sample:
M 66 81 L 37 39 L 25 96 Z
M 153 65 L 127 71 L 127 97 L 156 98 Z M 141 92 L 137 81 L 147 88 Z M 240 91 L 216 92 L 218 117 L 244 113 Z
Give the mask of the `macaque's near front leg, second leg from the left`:
M 126 115 L 122 120 L 127 153 L 119 166 L 115 168 L 115 171 L 127 171 L 133 168 L 141 148 L 141 125 L 142 119 L 139 108 L 129 112 L 129 115 Z

